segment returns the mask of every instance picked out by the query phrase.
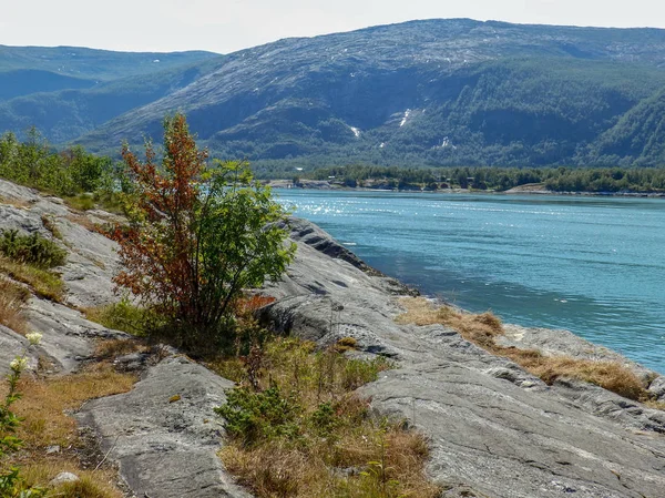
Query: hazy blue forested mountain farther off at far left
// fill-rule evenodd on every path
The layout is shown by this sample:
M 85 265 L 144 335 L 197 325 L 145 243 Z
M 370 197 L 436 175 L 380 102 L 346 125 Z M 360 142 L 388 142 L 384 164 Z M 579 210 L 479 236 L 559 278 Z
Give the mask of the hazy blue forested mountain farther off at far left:
M 37 126 L 66 143 L 184 88 L 215 68 L 211 52 L 111 52 L 0 45 L 0 130 Z

